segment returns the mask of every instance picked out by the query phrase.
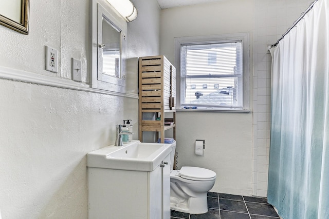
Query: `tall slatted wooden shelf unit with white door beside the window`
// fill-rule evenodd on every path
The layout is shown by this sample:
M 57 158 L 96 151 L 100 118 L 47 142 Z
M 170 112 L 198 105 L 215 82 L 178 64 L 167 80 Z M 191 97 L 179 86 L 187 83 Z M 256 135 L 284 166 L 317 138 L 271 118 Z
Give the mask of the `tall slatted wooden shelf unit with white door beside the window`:
M 145 56 L 139 58 L 139 140 L 143 140 L 143 131 L 161 134 L 161 143 L 165 139 L 165 130 L 173 128 L 176 138 L 176 68 L 163 56 Z M 173 113 L 173 124 L 165 125 L 165 113 Z M 143 113 L 155 113 L 160 120 L 143 120 Z

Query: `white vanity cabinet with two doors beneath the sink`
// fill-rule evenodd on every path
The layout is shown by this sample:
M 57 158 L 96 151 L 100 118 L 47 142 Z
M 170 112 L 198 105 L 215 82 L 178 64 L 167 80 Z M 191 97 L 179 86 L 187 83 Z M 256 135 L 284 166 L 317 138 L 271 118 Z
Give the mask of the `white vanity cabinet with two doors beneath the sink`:
M 169 159 L 150 172 L 88 167 L 89 219 L 169 219 Z

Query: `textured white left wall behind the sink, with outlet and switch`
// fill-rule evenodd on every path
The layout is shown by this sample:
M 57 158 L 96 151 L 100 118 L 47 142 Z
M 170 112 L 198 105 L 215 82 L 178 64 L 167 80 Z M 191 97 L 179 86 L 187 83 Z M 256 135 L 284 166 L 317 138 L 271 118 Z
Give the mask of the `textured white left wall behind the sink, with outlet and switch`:
M 133 2 L 139 16 L 128 24 L 127 58 L 159 54 L 158 5 Z M 0 26 L 0 73 L 70 81 L 74 57 L 82 60 L 81 87 L 88 87 L 89 4 L 31 1 L 29 35 Z M 57 74 L 44 70 L 45 45 L 59 50 Z M 137 69 L 131 76 L 136 93 Z M 128 118 L 137 139 L 137 99 L 0 78 L 2 218 L 87 218 L 86 153 L 114 144 L 115 124 Z

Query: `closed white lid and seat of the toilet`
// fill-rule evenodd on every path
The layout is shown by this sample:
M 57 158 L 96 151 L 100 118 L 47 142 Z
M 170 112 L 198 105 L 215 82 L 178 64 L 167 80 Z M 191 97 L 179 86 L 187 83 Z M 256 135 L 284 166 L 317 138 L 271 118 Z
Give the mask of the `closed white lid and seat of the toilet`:
M 179 176 L 188 180 L 209 181 L 216 178 L 216 173 L 201 167 L 182 167 Z

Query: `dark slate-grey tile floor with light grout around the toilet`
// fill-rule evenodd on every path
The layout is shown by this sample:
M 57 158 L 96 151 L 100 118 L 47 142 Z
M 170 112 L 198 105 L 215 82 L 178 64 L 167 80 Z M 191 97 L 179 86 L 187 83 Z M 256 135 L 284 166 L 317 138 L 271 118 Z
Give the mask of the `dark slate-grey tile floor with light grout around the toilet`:
M 276 219 L 266 198 L 208 192 L 208 212 L 188 214 L 171 210 L 171 219 Z

